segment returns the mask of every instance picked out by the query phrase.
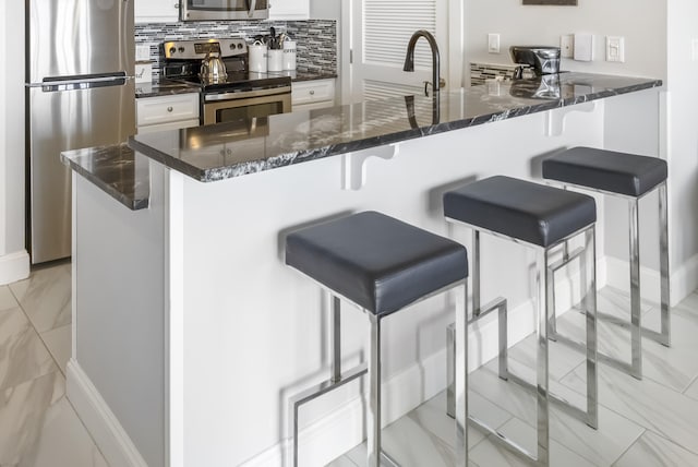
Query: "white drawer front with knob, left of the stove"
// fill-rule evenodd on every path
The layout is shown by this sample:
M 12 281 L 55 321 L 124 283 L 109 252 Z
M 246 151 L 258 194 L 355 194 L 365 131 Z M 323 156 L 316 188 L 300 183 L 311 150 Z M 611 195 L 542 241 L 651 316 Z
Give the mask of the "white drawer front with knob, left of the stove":
M 142 97 L 136 99 L 137 125 L 169 123 L 198 118 L 198 94 Z

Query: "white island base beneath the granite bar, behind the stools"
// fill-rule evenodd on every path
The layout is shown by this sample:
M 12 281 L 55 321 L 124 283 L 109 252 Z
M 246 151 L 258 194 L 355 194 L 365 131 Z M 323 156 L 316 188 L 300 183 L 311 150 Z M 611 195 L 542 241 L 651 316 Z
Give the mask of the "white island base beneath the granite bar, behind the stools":
M 649 89 L 210 183 L 149 160 L 149 207 L 141 211 L 73 172 L 71 402 L 113 467 L 280 466 L 286 398 L 326 379 L 329 363 L 323 297 L 284 265 L 285 232 L 373 209 L 469 244 L 469 231 L 443 218 L 445 191 L 496 173 L 540 179 L 541 157 L 575 145 L 658 155 L 660 95 Z M 604 212 L 617 231 L 627 227 L 623 205 L 598 205 L 603 286 L 606 255 L 627 256 L 623 240 L 606 239 Z M 643 206 L 648 225 L 654 206 Z M 655 243 L 646 243 L 651 266 Z M 482 261 L 483 300 L 508 298 L 514 345 L 533 332 L 533 255 L 484 237 Z M 576 295 L 570 283 L 557 284 L 558 310 Z M 452 303 L 435 297 L 386 320 L 386 423 L 445 388 Z M 348 309 L 342 320 L 350 366 L 363 358 L 366 324 Z M 469 351 L 471 369 L 494 357 L 496 321 L 471 331 Z M 301 465 L 324 465 L 362 441 L 361 387 L 303 407 Z

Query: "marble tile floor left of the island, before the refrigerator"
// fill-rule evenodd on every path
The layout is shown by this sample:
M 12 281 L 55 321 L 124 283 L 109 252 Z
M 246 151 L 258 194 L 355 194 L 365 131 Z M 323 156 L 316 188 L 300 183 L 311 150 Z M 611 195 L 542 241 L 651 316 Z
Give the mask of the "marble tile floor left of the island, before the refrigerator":
M 65 397 L 71 266 L 0 287 L 0 467 L 107 467 Z

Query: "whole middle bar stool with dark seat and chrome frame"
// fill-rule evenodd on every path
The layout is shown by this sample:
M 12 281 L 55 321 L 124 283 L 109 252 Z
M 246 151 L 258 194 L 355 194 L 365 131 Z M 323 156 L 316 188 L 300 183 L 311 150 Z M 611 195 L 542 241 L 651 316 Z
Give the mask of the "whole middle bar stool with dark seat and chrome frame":
M 595 320 L 595 267 L 588 271 L 589 263 L 595 262 L 594 229 L 597 206 L 592 197 L 568 192 L 553 187 L 496 176 L 466 184 L 444 195 L 444 215 L 448 221 L 466 225 L 472 229 L 472 318 L 474 322 L 491 311 L 500 312 L 500 378 L 512 380 L 537 395 L 538 447 L 530 453 L 508 440 L 482 421 L 469 417 L 476 426 L 494 434 L 493 440 L 504 443 L 509 450 L 532 459 L 537 465 L 550 463 L 549 399 L 561 403 L 571 415 L 587 424 L 598 424 L 598 375 L 597 375 L 597 320 Z M 500 298 L 491 304 L 480 307 L 480 234 L 486 232 L 498 238 L 532 248 L 535 251 L 537 294 L 537 382 L 524 381 L 508 370 L 507 360 L 507 307 Z M 553 250 L 566 240 L 583 235 L 580 260 L 585 309 L 587 314 L 587 407 L 581 409 L 549 393 L 547 320 L 553 311 L 554 274 L 551 270 Z M 571 261 L 571 260 L 569 260 Z M 590 274 L 589 274 L 590 273 Z M 586 287 L 587 286 L 587 287 Z M 453 348 L 448 348 L 453 352 Z M 456 369 L 457 371 L 458 369 Z M 452 407 L 448 407 L 452 410 Z

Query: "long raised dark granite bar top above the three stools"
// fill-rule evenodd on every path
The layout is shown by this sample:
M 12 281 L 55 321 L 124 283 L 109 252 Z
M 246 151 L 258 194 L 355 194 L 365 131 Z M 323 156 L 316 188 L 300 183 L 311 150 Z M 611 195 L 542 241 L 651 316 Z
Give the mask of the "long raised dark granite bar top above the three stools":
M 423 96 L 388 98 L 142 134 L 129 145 L 209 182 L 661 85 L 645 77 L 561 73 L 442 92 L 438 105 Z

